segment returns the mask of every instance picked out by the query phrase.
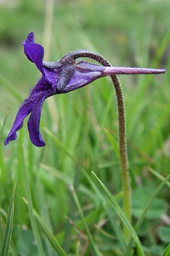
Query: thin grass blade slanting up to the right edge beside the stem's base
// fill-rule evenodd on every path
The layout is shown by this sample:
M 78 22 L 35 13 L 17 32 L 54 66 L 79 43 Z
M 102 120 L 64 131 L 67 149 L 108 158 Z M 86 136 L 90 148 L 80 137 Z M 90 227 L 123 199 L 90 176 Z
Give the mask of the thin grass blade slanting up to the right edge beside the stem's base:
M 155 190 L 154 194 L 152 195 L 152 197 L 150 198 L 150 200 L 148 201 L 145 209 L 143 210 L 143 213 L 141 215 L 141 217 L 139 218 L 139 220 L 137 221 L 137 224 L 135 225 L 135 231 L 137 232 L 146 216 L 147 210 L 150 207 L 152 201 L 154 200 L 154 198 L 158 195 L 158 193 L 160 192 L 160 190 L 164 187 L 164 185 L 167 183 L 167 181 L 170 179 L 170 174 L 164 179 L 163 178 L 163 182 L 160 183 L 159 187 Z M 133 239 L 131 239 L 129 241 L 128 244 L 128 252 L 130 252 L 131 246 L 133 245 Z

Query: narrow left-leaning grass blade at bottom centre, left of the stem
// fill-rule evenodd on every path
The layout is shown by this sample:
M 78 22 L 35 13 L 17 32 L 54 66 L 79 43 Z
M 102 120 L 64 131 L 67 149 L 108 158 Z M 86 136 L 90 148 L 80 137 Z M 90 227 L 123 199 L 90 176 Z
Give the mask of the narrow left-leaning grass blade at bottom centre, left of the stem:
M 86 220 L 84 218 L 84 214 L 83 214 L 82 208 L 80 207 L 80 203 L 79 203 L 78 197 L 76 196 L 74 187 L 70 186 L 70 188 L 71 188 L 71 193 L 73 195 L 74 203 L 75 203 L 76 207 L 78 208 L 80 217 L 82 218 L 82 222 L 84 224 L 84 228 L 86 229 L 86 233 L 87 233 L 87 236 L 88 236 L 88 239 L 89 239 L 92 251 L 93 251 L 95 256 L 101 256 L 102 254 L 97 249 L 97 246 L 95 245 L 94 239 L 92 238 L 92 235 L 90 233 L 90 230 L 88 229 L 88 226 L 87 226 Z

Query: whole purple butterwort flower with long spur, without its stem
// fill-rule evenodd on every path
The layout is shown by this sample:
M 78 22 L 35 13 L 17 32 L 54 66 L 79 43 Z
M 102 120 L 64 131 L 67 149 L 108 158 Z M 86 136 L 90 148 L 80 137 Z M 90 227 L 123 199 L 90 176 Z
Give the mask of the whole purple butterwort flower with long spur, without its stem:
M 76 61 L 78 57 L 91 57 L 92 59 L 102 57 L 95 52 L 77 50 L 67 53 L 60 60 L 54 62 L 43 61 L 44 48 L 34 42 L 33 32 L 29 33 L 27 39 L 22 43 L 27 58 L 35 63 L 41 72 L 41 78 L 25 98 L 16 114 L 14 123 L 8 134 L 5 145 L 16 139 L 16 132 L 23 126 L 23 120 L 29 114 L 28 131 L 31 142 L 37 147 L 45 146 L 40 134 L 40 115 L 44 100 L 50 96 L 60 93 L 71 92 L 81 88 L 100 77 L 108 75 L 135 75 L 164 73 L 164 69 L 148 68 L 126 68 L 126 67 L 103 67 L 86 61 Z M 97 56 L 97 57 L 94 57 Z M 106 63 L 108 66 L 108 63 Z

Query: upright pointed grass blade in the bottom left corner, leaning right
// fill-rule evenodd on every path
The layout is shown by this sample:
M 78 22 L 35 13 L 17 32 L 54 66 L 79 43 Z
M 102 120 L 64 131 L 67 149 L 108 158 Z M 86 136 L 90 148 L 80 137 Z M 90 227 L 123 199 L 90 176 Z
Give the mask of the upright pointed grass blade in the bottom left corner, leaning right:
M 13 226 L 13 219 L 14 219 L 15 190 L 16 190 L 16 183 L 14 184 L 14 188 L 12 190 L 12 195 L 11 195 L 11 199 L 10 199 L 10 205 L 8 207 L 5 234 L 4 234 L 1 253 L 0 253 L 1 256 L 7 256 L 9 248 L 10 248 L 10 242 L 11 242 L 11 236 L 12 236 L 12 226 Z

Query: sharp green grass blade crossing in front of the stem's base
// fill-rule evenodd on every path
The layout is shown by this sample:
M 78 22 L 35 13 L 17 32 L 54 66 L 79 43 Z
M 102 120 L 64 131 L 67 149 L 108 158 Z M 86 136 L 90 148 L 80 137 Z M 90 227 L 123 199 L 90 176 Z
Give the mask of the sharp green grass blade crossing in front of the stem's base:
M 101 180 L 97 177 L 97 175 L 95 174 L 95 172 L 92 172 L 92 174 L 94 174 L 94 176 L 96 177 L 96 180 L 98 181 L 100 187 L 103 189 L 105 195 L 108 197 L 108 199 L 111 201 L 112 203 L 112 207 L 114 208 L 114 210 L 116 211 L 116 213 L 118 214 L 118 216 L 120 217 L 122 223 L 126 226 L 126 228 L 129 230 L 129 233 L 131 234 L 131 236 L 133 237 L 134 241 L 135 241 L 135 245 L 137 247 L 137 251 L 138 251 L 138 255 L 139 256 L 144 256 L 145 253 L 142 249 L 142 245 L 141 242 L 139 241 L 139 238 L 133 228 L 133 226 L 131 226 L 128 218 L 125 216 L 124 211 L 121 209 L 121 207 L 117 204 L 117 201 L 114 199 L 114 197 L 112 196 L 111 192 L 109 192 L 109 190 L 105 187 L 105 185 L 101 182 Z

